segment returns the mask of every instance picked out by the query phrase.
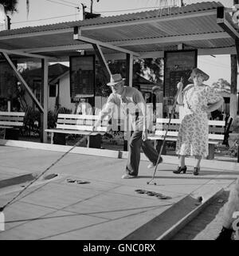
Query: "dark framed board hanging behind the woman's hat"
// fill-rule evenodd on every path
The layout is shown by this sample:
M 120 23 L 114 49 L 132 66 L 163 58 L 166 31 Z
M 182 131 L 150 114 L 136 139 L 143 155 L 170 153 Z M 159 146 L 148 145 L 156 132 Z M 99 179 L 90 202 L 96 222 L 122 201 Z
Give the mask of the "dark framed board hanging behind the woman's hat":
M 188 78 L 191 70 L 197 67 L 198 52 L 180 50 L 165 52 L 164 86 L 163 93 L 167 98 L 174 98 L 177 93 L 177 84 L 183 78 L 183 85 L 189 85 Z

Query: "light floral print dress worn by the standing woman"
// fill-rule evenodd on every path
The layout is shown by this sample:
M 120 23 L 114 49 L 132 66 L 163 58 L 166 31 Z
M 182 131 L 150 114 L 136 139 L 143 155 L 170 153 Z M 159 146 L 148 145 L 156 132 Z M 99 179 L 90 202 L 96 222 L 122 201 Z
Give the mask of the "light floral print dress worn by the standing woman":
M 182 91 L 184 116 L 178 131 L 176 154 L 181 156 L 208 155 L 208 117 L 205 109 L 222 96 L 208 85 L 187 85 Z

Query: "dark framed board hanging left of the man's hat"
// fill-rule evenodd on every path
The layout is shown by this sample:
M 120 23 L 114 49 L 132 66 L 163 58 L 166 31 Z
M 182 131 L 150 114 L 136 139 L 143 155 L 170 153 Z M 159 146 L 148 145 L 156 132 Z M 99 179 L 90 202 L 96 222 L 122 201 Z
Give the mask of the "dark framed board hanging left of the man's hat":
M 70 57 L 71 98 L 95 96 L 95 57 Z

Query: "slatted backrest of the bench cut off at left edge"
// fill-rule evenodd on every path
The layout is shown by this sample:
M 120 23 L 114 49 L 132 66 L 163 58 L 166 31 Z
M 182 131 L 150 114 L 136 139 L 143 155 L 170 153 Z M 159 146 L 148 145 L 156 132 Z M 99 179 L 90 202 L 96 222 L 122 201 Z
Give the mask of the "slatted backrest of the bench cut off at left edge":
M 0 112 L 0 127 L 23 126 L 25 112 Z

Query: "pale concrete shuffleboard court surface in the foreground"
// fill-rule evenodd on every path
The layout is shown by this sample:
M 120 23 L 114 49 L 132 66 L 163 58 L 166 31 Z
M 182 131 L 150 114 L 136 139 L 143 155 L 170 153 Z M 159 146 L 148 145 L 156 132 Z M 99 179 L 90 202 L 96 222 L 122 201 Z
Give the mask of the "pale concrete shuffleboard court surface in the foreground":
M 0 147 L 0 179 L 39 173 L 61 155 Z M 147 185 L 154 171 L 147 169 L 148 162 L 140 162 L 138 179 L 121 179 L 126 163 L 125 159 L 102 156 L 65 156 L 48 172 L 58 174 L 57 178 L 37 181 L 6 207 L 6 230 L 0 231 L 0 239 L 157 239 L 162 234 L 158 232 L 160 226 L 166 230 L 170 227 L 159 218 L 164 212 L 188 195 L 228 187 L 237 178 L 236 171 L 206 167 L 199 176 L 192 175 L 193 167 L 188 167 L 185 175 L 175 175 L 175 164 L 161 163 L 155 175 L 156 186 Z M 89 183 L 68 183 L 69 178 Z M 19 184 L 0 189 L 0 207 L 22 188 Z M 135 189 L 159 192 L 170 199 L 137 194 Z

